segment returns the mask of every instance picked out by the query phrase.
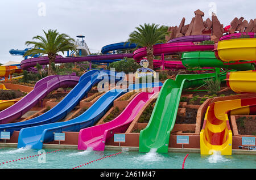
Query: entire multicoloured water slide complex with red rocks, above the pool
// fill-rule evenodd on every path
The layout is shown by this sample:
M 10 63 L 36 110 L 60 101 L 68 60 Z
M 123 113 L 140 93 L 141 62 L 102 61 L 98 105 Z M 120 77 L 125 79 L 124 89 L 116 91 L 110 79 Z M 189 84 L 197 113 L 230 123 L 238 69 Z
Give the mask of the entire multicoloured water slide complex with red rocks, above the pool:
M 1 100 L 0 132 L 10 132 L 10 138 L 5 143 L 2 140 L 1 145 L 255 154 L 255 122 L 251 119 L 256 118 L 256 25 L 251 28 L 251 23 L 235 18 L 229 28 L 220 28 L 215 14 L 203 25 L 202 16 L 202 11 L 195 11 L 195 18 L 187 25 L 183 18 L 179 27 L 168 28 L 170 35 L 165 43 L 153 46 L 154 70 L 167 75 L 156 82 L 127 80 L 123 72 L 109 69 L 111 63 L 124 58 L 138 65 L 147 59 L 146 47 L 117 42 L 103 46 L 101 54 L 92 55 L 85 36 L 76 36 L 81 38 L 75 42 L 77 51 L 56 55 L 55 64 L 85 63 L 86 71 L 46 76 L 22 98 Z M 24 55 L 26 50 L 11 49 L 10 54 Z M 94 63 L 97 68 L 92 67 Z M 46 68 L 48 56 L 24 57 L 20 68 L 0 66 L 0 76 L 5 78 L 1 91 L 14 89 L 14 73 L 26 70 L 39 75 L 38 64 Z M 109 82 L 114 87 L 107 86 Z M 124 82 L 129 85 L 118 87 Z M 102 88 L 106 91 L 101 92 Z M 57 95 L 61 95 L 57 101 L 48 98 Z M 147 121 L 143 121 L 143 115 Z M 244 124 L 251 129 L 240 134 L 247 130 Z M 64 134 L 65 140 L 55 140 L 56 134 Z M 118 141 L 118 135 L 125 140 Z M 243 143 L 246 138 L 252 139 L 251 144 Z M 244 147 L 252 151 L 241 149 Z

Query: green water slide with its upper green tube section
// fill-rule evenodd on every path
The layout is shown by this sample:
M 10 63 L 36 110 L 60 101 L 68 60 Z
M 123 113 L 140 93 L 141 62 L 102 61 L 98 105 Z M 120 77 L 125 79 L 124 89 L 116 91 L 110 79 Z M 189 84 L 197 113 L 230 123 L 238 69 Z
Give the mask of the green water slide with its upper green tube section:
M 212 52 L 189 53 L 183 53 L 182 58 L 191 61 L 190 63 L 193 63 L 193 67 L 221 67 L 221 61 L 213 58 Z M 198 55 L 197 58 L 195 58 L 196 53 Z M 209 63 L 209 61 L 211 63 Z M 254 65 L 243 64 L 239 66 L 239 69 L 241 68 L 243 68 L 243 70 L 251 70 L 254 69 Z M 149 152 L 150 149 L 156 149 L 156 152 L 159 153 L 168 152 L 170 133 L 175 125 L 181 92 L 183 89 L 199 87 L 200 85 L 205 84 L 205 80 L 210 78 L 216 78 L 216 73 L 177 75 L 175 80 L 167 79 L 164 82 L 156 100 L 150 121 L 148 122 L 146 128 L 144 128 L 144 130 L 142 130 L 139 134 L 139 152 Z M 226 73 L 219 74 L 218 78 L 220 80 L 225 80 Z

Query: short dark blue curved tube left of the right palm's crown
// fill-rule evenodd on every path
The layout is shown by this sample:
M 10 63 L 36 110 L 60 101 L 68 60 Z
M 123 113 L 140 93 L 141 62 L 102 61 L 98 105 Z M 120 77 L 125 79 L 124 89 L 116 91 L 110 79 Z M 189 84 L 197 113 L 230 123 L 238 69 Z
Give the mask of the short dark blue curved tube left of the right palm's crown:
M 135 44 L 135 43 L 118 42 L 118 43 L 103 46 L 101 48 L 101 53 L 102 54 L 108 54 L 110 51 L 113 51 L 113 50 L 134 49 L 134 48 L 136 48 L 136 46 L 137 46 L 137 44 Z

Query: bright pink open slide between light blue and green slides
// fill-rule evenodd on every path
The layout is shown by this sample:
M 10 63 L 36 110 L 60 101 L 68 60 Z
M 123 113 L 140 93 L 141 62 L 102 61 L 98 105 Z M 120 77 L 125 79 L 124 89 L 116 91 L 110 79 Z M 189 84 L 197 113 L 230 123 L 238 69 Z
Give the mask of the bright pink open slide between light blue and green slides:
M 86 150 L 90 148 L 94 151 L 104 151 L 105 143 L 108 142 L 115 133 L 125 132 L 146 102 L 150 100 L 150 98 L 154 98 L 160 91 L 160 88 L 161 87 L 154 87 L 152 92 L 138 93 L 123 112 L 112 121 L 80 130 L 78 149 Z

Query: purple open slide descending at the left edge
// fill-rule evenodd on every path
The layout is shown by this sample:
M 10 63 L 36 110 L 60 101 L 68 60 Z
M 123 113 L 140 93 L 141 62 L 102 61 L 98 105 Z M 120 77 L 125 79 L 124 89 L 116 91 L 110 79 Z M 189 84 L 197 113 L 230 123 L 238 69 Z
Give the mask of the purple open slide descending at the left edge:
M 0 112 L 0 124 L 10 123 L 22 117 L 51 91 L 60 87 L 74 87 L 79 82 L 79 78 L 75 75 L 52 75 L 39 80 L 30 93 Z

